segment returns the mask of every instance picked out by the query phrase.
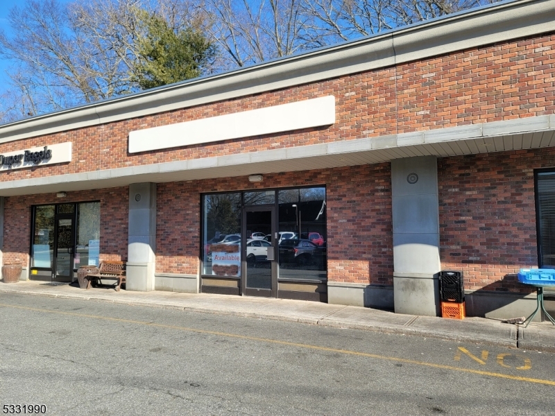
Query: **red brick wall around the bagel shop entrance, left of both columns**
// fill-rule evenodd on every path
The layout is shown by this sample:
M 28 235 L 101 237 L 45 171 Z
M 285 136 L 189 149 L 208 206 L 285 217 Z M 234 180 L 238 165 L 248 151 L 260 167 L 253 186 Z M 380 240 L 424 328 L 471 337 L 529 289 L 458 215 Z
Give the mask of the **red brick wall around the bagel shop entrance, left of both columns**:
M 59 204 L 100 200 L 100 258 L 101 260 L 127 259 L 128 188 L 94 189 L 68 192 L 66 198 L 51 193 L 12 196 L 4 207 L 3 263 L 29 265 L 31 242 L 31 205 Z

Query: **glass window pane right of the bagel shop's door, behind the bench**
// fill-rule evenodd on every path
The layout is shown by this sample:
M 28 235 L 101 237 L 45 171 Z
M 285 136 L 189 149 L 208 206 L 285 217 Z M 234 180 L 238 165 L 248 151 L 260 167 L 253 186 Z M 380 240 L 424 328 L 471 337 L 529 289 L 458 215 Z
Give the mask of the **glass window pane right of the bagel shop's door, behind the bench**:
M 99 266 L 100 202 L 77 205 L 75 268 Z

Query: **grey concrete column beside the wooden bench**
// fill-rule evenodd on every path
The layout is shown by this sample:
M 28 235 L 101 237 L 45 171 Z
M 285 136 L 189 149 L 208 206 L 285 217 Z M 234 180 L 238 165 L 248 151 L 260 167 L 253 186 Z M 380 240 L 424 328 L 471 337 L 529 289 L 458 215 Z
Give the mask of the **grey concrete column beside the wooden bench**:
M 153 291 L 156 261 L 156 184 L 129 185 L 128 291 Z

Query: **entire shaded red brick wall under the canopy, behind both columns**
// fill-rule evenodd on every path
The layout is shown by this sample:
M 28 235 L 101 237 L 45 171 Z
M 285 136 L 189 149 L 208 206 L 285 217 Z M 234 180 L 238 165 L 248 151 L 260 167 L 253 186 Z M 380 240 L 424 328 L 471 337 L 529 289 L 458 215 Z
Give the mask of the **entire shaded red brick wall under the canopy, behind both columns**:
M 533 169 L 555 166 L 555 148 L 438 159 L 441 268 L 463 270 L 472 291 L 527 292 L 515 273 L 536 267 Z M 157 272 L 196 274 L 200 193 L 325 184 L 330 281 L 392 284 L 389 164 L 158 184 Z M 70 192 L 101 200 L 101 257 L 127 255 L 128 189 Z M 3 262 L 28 262 L 31 205 L 51 194 L 6 198 Z

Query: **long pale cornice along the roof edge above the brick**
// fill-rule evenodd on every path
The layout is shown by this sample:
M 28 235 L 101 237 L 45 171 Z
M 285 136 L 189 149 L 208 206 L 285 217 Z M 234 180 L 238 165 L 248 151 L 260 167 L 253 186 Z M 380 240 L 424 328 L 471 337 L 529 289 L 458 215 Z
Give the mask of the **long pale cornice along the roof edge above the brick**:
M 555 0 L 516 0 L 253 67 L 0 126 L 0 143 L 314 83 L 554 31 Z

